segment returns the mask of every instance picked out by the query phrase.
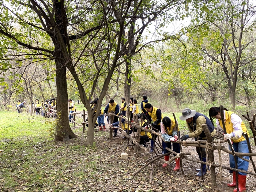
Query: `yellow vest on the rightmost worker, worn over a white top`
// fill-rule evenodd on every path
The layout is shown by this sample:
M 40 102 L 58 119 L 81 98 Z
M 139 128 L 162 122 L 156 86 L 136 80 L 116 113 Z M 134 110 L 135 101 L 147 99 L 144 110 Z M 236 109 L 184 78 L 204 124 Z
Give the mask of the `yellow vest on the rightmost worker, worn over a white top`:
M 226 131 L 227 133 L 232 133 L 234 132 L 234 128 L 233 128 L 233 123 L 231 122 L 231 114 L 233 114 L 234 112 L 231 112 L 231 111 L 226 111 L 225 112 L 225 116 L 226 116 L 226 121 L 225 121 L 225 127 L 226 127 Z M 223 128 L 223 125 L 222 125 L 222 121 L 220 119 L 219 120 L 219 125 L 221 125 L 221 127 Z M 242 131 L 243 133 L 247 133 L 248 134 L 248 137 L 250 137 L 246 127 L 245 127 L 245 124 L 244 122 L 241 123 L 241 127 L 242 127 Z M 245 137 L 242 135 L 241 138 L 239 139 L 232 139 L 231 140 L 234 142 L 234 143 L 238 143 L 238 142 L 241 142 L 241 141 L 244 141 L 246 140 Z

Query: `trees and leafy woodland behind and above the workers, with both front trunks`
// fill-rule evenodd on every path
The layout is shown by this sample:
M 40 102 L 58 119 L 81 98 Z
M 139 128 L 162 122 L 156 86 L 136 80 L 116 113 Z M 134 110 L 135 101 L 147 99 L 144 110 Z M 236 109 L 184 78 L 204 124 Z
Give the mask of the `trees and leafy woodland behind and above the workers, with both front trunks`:
M 56 140 L 76 138 L 68 98 L 88 112 L 133 97 L 163 112 L 255 106 L 255 2 L 1 1 L 1 109 L 57 96 Z M 177 27 L 177 23 L 181 23 Z M 99 98 L 91 110 L 89 102 Z M 32 112 L 32 110 L 31 110 Z

